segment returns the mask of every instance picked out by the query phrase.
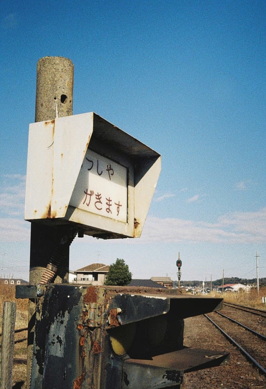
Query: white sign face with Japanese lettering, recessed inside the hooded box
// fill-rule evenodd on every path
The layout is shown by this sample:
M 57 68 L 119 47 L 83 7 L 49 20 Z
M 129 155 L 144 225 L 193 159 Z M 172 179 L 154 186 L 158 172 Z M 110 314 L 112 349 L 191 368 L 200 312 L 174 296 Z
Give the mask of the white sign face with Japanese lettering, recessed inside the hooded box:
M 127 168 L 87 149 L 69 205 L 127 223 Z

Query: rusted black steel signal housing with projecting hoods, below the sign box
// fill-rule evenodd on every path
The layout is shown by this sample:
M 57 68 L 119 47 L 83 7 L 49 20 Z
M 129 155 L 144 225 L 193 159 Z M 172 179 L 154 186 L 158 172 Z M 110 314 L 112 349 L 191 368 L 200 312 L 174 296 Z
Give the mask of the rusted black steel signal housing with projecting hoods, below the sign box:
M 31 389 L 179 388 L 186 371 L 227 354 L 184 348 L 183 318 L 222 299 L 160 288 L 17 286 L 36 300 Z

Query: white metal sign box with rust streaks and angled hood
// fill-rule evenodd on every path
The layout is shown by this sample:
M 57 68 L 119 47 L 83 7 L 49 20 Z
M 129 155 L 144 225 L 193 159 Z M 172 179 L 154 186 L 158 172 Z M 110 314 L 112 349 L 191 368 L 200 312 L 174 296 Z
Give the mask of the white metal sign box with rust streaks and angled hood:
M 138 237 L 161 157 L 94 112 L 30 124 L 25 219 Z

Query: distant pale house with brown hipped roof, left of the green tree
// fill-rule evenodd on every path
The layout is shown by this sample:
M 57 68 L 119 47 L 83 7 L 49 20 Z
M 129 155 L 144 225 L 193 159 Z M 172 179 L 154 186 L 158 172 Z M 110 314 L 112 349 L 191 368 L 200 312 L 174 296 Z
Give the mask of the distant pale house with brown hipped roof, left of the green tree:
M 69 277 L 69 282 L 71 282 L 70 279 L 72 278 L 72 283 L 103 285 L 109 271 L 109 267 L 109 265 L 105 264 L 91 264 L 84 266 L 81 269 L 71 272 L 72 274 Z M 73 273 L 75 275 L 74 277 Z

